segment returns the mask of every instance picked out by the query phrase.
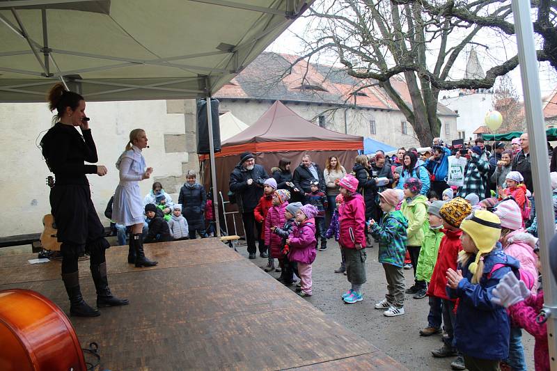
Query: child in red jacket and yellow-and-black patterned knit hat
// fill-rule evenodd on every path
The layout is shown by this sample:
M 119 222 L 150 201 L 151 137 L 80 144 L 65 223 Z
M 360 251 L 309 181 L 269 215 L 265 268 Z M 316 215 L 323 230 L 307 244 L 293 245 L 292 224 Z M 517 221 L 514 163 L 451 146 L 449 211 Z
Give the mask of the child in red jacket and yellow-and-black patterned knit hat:
M 445 203 L 439 210 L 439 215 L 443 219 L 444 237 L 439 244 L 437 262 L 433 269 L 430 285 L 427 287 L 427 296 L 439 298 L 442 301 L 442 317 L 447 336 L 443 338 L 444 345 L 432 351 L 434 357 L 458 356 L 453 362 L 456 366 L 464 365 L 464 359 L 457 353 L 455 347 L 455 299 L 450 299 L 446 292 L 447 277 L 446 271 L 451 268 L 457 269 L 458 253 L 462 250 L 460 236 L 460 223 L 472 212 L 471 205 L 464 198 L 453 198 Z M 423 329 L 422 331 L 426 331 Z M 458 369 L 458 368 L 455 368 Z

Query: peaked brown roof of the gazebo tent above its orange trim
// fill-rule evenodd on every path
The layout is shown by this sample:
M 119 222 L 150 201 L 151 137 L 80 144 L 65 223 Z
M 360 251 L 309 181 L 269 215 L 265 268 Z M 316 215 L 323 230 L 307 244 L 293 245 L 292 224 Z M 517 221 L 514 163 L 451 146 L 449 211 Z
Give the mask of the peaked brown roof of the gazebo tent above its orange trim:
M 306 141 L 359 142 L 363 148 L 362 136 L 341 134 L 319 127 L 304 120 L 278 100 L 256 123 L 223 141 L 222 148 L 246 143 Z

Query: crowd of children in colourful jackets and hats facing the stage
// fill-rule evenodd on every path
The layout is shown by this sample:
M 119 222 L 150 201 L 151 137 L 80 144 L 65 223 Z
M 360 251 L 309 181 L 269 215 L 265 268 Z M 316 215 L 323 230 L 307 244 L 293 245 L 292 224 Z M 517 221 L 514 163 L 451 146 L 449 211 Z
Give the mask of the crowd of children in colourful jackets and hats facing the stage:
M 299 295 L 311 297 L 317 242 L 334 238 L 341 255 L 335 272 L 344 273 L 350 284 L 341 299 L 354 304 L 364 299 L 367 225 L 378 241 L 387 284 L 385 297 L 375 308 L 387 317 L 404 315 L 405 294 L 414 299 L 427 296 L 427 326 L 419 335 L 442 333 L 443 340 L 432 356 L 455 357 L 451 363 L 455 370 L 499 370 L 501 365 L 525 370 L 521 344 L 525 329 L 537 340 L 536 370 L 548 370 L 547 331 L 535 323 L 543 303 L 537 239 L 524 229 L 530 219 L 528 194 L 520 173 L 510 171 L 506 179 L 499 198 L 480 201 L 476 194 L 460 198 L 448 188 L 442 200 L 427 200 L 421 180 L 405 177 L 402 190 L 378 193 L 382 216 L 366 222 L 358 180 L 347 174 L 338 182 L 337 207 L 326 232 L 319 218 L 327 199 L 320 191 L 312 189 L 306 205 L 288 204 L 288 191 L 269 187 L 260 201 L 265 245 L 271 258 L 278 259 L 278 279 L 292 285 L 300 278 Z M 265 206 L 267 198 L 271 203 Z M 414 269 L 414 283 L 407 289 L 406 253 Z

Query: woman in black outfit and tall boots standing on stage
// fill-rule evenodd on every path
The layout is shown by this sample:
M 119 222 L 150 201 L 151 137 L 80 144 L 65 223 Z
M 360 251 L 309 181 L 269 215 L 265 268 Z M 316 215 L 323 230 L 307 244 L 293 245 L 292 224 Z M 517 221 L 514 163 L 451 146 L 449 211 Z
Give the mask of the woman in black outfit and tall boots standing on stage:
M 97 307 L 128 303 L 127 299 L 118 299 L 110 292 L 104 258 L 104 251 L 110 245 L 104 239 L 104 227 L 91 201 L 86 177 L 86 174 L 103 176 L 107 168 L 84 164 L 84 161 L 98 161 L 97 148 L 85 116 L 84 97 L 56 84 L 49 91 L 48 101 L 50 111 L 56 110 L 55 124 L 42 137 L 40 145 L 47 166 L 56 175 L 56 184 L 50 191 L 50 207 L 58 228 L 58 242 L 62 242 L 62 280 L 70 298 L 70 314 L 95 317 L 100 312 L 88 306 L 79 288 L 77 259 L 82 253 L 90 256 Z M 78 126 L 81 134 L 76 129 Z

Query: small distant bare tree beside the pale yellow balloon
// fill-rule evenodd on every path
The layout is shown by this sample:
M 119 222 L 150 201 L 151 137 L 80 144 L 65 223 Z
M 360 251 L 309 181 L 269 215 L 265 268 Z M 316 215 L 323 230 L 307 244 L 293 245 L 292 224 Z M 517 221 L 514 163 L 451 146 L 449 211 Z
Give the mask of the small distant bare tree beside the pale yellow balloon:
M 494 90 L 493 106 L 503 116 L 503 124 L 497 132 L 522 132 L 526 129 L 524 125 L 524 104 L 520 103 L 517 89 L 512 84 L 510 77 L 506 75 L 501 77 L 499 86 Z

